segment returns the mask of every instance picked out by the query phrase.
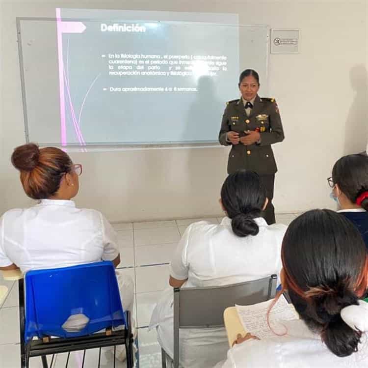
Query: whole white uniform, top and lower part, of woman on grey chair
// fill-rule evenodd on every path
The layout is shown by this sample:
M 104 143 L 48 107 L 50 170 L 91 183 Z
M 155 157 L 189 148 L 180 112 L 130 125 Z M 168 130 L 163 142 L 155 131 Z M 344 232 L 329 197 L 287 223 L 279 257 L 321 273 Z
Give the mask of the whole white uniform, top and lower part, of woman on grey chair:
M 259 233 L 239 237 L 231 219 L 221 224 L 201 221 L 184 232 L 170 263 L 170 275 L 188 279 L 182 287 L 220 286 L 261 279 L 281 270 L 281 244 L 287 226 L 267 225 L 255 219 Z M 165 290 L 152 314 L 158 342 L 173 356 L 173 289 Z M 208 368 L 226 358 L 225 329 L 183 329 L 180 331 L 180 362 L 184 367 Z

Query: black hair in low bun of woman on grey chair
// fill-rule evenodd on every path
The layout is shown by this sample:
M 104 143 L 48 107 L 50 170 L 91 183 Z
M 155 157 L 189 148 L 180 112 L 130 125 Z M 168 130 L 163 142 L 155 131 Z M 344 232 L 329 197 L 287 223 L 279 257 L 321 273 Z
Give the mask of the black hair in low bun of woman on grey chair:
M 258 174 L 246 170 L 229 174 L 221 188 L 221 200 L 237 236 L 258 234 L 259 227 L 254 219 L 261 216 L 266 200 Z

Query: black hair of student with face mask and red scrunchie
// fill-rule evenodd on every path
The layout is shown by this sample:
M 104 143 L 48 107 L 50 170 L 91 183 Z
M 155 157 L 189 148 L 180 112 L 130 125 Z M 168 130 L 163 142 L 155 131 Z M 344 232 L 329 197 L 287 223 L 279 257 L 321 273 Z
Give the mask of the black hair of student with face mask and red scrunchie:
M 332 181 L 352 203 L 355 203 L 362 193 L 368 191 L 368 156 L 343 156 L 332 169 Z M 368 198 L 364 199 L 361 205 L 368 211 Z

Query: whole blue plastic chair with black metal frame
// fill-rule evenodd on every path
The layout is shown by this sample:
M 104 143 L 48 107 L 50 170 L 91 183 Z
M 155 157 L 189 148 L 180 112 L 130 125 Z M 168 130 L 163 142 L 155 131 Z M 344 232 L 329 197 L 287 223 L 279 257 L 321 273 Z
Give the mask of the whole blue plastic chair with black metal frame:
M 101 356 L 101 347 L 122 344 L 126 346 L 127 367 L 132 367 L 130 313 L 123 311 L 112 262 L 29 271 L 25 283 L 24 294 L 23 280 L 19 280 L 22 368 L 28 368 L 29 358 L 34 356 L 41 356 L 46 368 L 49 354 L 76 350 L 85 354 L 86 349 L 99 347 Z M 66 331 L 64 323 L 75 314 L 86 317 L 85 326 Z M 122 325 L 125 328 L 112 330 Z M 115 353 L 116 348 L 114 360 Z

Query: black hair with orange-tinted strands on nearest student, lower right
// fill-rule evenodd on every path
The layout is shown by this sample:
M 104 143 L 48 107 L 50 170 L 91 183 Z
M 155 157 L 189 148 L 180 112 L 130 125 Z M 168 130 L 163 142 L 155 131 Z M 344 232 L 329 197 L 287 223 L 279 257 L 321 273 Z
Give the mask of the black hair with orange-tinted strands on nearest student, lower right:
M 339 357 L 357 351 L 362 334 L 340 311 L 367 292 L 368 253 L 359 230 L 334 211 L 308 211 L 289 225 L 281 258 L 283 288 L 308 327 Z

